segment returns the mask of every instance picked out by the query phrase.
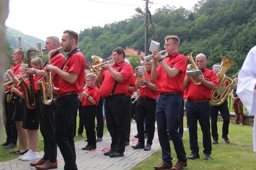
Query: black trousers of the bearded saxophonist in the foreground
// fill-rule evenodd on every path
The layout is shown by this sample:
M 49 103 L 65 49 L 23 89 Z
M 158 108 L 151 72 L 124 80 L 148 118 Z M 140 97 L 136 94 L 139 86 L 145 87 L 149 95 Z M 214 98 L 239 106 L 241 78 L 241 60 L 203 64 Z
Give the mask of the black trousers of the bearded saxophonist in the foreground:
M 77 170 L 75 163 L 74 115 L 79 107 L 77 94 L 58 99 L 56 110 L 55 141 L 65 161 L 64 169 Z

